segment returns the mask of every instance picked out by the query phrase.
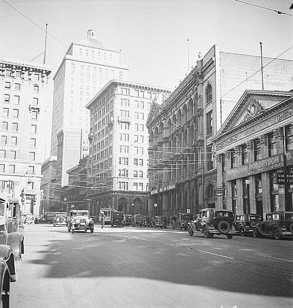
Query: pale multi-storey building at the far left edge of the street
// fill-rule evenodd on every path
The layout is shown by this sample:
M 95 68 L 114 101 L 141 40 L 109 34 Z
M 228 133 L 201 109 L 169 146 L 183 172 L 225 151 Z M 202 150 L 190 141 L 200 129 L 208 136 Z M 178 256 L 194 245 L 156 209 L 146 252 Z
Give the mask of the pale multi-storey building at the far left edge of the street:
M 19 198 L 23 214 L 39 215 L 50 72 L 45 66 L 0 60 L 0 191 Z

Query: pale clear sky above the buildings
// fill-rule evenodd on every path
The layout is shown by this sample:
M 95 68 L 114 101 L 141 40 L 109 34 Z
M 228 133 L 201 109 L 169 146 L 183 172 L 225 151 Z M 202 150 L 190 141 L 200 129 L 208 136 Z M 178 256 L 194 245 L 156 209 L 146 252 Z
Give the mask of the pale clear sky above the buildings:
M 267 57 L 293 46 L 290 0 L 244 2 L 264 8 L 236 0 L 0 0 L 0 59 L 37 57 L 45 45 L 41 28 L 48 24 L 50 125 L 53 76 L 70 44 L 86 38 L 89 29 L 97 40 L 122 51 L 129 81 L 172 90 L 195 66 L 198 53 L 204 55 L 214 44 L 225 52 L 260 55 L 262 41 Z M 292 60 L 293 48 L 280 58 Z M 43 55 L 32 63 L 42 64 Z M 44 134 L 49 143 L 49 130 Z

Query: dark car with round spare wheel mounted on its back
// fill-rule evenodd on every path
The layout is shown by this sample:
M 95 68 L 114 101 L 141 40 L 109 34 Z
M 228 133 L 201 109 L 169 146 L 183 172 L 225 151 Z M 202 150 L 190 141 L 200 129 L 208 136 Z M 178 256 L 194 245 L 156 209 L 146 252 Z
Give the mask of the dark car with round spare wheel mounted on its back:
M 226 235 L 228 239 L 237 234 L 233 226 L 234 215 L 232 210 L 203 208 L 199 211 L 199 218 L 188 222 L 188 234 L 203 233 L 205 238 L 216 235 Z

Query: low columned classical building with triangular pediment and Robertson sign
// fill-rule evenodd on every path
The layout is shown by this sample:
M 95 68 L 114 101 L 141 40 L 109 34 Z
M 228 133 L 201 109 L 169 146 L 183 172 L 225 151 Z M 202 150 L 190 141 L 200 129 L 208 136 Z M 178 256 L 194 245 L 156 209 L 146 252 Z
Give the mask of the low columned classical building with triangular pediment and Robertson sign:
M 293 92 L 245 91 L 214 139 L 218 203 L 235 215 L 292 211 L 292 106 Z

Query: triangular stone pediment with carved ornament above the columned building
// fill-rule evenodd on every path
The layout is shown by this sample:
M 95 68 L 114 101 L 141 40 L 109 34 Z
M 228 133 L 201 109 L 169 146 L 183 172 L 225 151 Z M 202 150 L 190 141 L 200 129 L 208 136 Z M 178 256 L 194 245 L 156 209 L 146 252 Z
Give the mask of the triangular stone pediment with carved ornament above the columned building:
M 219 129 L 217 136 L 258 117 L 266 110 L 291 97 L 292 94 L 289 91 L 245 91 Z

